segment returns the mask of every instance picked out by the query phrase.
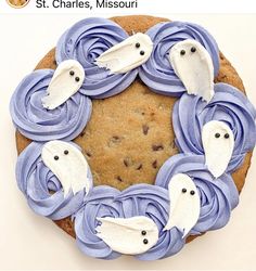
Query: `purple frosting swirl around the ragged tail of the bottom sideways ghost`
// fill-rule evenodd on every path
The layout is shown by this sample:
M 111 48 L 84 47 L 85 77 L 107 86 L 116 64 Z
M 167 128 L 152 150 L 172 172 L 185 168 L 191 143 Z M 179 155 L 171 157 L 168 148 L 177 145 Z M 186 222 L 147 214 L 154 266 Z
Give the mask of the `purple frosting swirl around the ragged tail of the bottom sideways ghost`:
M 92 188 L 85 198 L 82 208 L 74 215 L 76 242 L 84 254 L 101 259 L 115 259 L 120 256 L 95 235 L 95 228 L 99 225 L 97 218 L 120 216 L 119 204 L 114 203 L 115 196 L 119 193 L 111 186 Z

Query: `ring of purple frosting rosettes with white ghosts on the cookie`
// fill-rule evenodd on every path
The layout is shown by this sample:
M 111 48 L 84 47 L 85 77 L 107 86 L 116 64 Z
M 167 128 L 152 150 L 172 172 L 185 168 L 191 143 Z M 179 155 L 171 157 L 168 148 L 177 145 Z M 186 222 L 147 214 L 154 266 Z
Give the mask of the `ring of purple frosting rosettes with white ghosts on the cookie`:
M 204 28 L 168 22 L 129 37 L 112 21 L 86 18 L 64 33 L 55 57 L 56 70 L 31 73 L 11 100 L 15 127 L 34 140 L 18 156 L 16 179 L 35 212 L 72 216 L 78 247 L 103 259 L 165 258 L 187 236 L 227 224 L 239 202 L 231 173 L 255 145 L 256 111 L 238 89 L 214 83 L 219 51 Z M 180 154 L 155 185 L 93 186 L 72 140 L 90 119 L 91 99 L 115 95 L 137 76 L 180 96 L 172 113 Z

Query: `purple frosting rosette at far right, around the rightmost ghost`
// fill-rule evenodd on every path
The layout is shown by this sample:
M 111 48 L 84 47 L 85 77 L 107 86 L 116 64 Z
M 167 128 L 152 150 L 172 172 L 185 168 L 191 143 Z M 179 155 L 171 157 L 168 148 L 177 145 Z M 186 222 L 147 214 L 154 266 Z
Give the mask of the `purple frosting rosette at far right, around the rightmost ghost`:
M 188 108 L 190 108 L 188 111 Z M 183 153 L 204 154 L 202 128 L 210 120 L 225 121 L 234 134 L 234 150 L 227 171 L 236 169 L 256 142 L 256 111 L 247 98 L 226 83 L 215 85 L 215 95 L 207 104 L 184 93 L 175 104 L 172 125 L 176 143 Z

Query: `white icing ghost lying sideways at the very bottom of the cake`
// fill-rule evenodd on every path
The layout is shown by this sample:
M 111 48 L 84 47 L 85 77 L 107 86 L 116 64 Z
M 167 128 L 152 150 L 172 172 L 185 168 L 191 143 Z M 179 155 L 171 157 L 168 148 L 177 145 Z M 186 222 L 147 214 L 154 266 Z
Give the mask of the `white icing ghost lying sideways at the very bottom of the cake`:
M 155 222 L 143 216 L 132 218 L 98 218 L 101 225 L 95 228 L 114 251 L 136 255 L 149 250 L 157 243 L 158 229 Z

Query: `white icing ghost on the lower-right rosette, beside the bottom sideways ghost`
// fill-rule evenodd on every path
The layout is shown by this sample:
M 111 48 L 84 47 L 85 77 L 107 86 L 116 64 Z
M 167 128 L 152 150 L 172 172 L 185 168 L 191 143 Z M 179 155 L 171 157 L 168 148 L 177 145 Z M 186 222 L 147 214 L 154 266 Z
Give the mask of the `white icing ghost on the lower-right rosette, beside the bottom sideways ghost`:
M 200 195 L 188 175 L 175 175 L 168 185 L 170 209 L 164 230 L 177 227 L 183 232 L 182 238 L 195 225 L 200 217 Z

